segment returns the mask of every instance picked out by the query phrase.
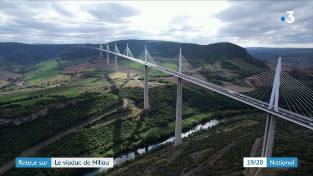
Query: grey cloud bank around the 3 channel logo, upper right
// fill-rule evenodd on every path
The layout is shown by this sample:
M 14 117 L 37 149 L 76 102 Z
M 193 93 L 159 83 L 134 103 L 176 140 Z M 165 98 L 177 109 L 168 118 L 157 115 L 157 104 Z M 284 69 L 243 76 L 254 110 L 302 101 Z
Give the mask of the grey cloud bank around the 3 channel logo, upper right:
M 217 37 L 272 44 L 312 43 L 312 8 L 313 1 L 233 1 L 215 15 L 228 23 L 219 29 Z M 287 11 L 294 11 L 293 23 L 280 21 L 281 16 L 287 19 Z

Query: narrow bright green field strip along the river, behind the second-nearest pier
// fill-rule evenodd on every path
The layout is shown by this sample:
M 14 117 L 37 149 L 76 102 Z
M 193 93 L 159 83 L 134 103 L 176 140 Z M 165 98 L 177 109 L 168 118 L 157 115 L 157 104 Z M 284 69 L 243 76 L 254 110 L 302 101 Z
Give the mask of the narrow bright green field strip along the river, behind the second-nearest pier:
M 198 122 L 202 118 L 208 117 L 210 115 L 211 115 L 210 113 L 200 113 L 200 114 L 194 115 L 192 117 L 183 119 L 181 121 L 181 124 L 182 124 L 182 126 L 189 125 L 189 124 L 191 124 L 193 122 Z M 150 130 L 148 130 L 147 132 L 144 133 L 144 136 L 145 137 L 147 137 L 147 136 L 155 136 L 156 134 L 159 134 L 159 133 L 162 133 L 162 132 L 171 132 L 171 131 L 174 132 L 174 130 L 175 130 L 175 122 L 172 122 L 172 123 L 169 123 L 166 127 L 154 127 L 154 128 L 151 128 Z

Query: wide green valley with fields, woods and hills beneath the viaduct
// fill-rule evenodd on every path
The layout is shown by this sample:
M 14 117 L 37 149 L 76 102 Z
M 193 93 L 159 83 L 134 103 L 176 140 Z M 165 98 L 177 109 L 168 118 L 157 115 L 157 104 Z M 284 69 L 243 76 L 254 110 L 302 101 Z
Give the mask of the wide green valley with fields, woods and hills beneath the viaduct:
M 172 70 L 178 70 L 177 48 L 182 46 L 184 56 L 198 72 L 208 82 L 219 86 L 273 67 L 254 59 L 245 48 L 230 43 L 116 41 L 121 51 L 129 44 L 135 57 L 140 56 L 145 43 L 158 65 Z M 109 43 L 110 47 L 112 45 Z M 0 174 L 88 175 L 94 170 L 17 169 L 12 168 L 12 164 L 18 156 L 118 159 L 156 144 L 153 149 L 116 164 L 114 169 L 94 174 L 201 176 L 217 175 L 220 170 L 224 170 L 224 175 L 227 172 L 233 175 L 255 172 L 242 168 L 242 157 L 250 156 L 255 140 L 264 134 L 265 113 L 260 110 L 183 81 L 182 131 L 187 134 L 182 146 L 177 148 L 172 143 L 163 143 L 174 135 L 177 78 L 149 68 L 150 109 L 144 111 L 143 65 L 130 61 L 131 80 L 127 81 L 125 59 L 118 59 L 119 71 L 115 72 L 112 55 L 110 64 L 106 64 L 106 58 L 99 58 L 99 53 L 93 50 L 78 50 L 70 45 L 43 47 L 51 51 L 48 57 L 30 52 L 34 59 L 24 58 L 27 62 L 14 54 L 9 58 L 7 53 L 0 53 L 6 64 L 14 63 L 0 72 Z M 312 70 L 289 66 L 282 69 L 313 88 Z M 203 124 L 213 121 L 219 123 L 200 129 Z M 277 150 L 273 154 L 285 156 L 287 150 L 302 154 L 297 146 L 278 150 L 284 143 L 294 142 L 293 135 L 301 139 L 303 147 L 310 148 L 311 131 L 286 120 L 280 119 L 279 123 L 279 137 L 274 143 Z M 195 127 L 197 130 L 193 130 Z M 300 134 L 300 130 L 308 136 Z M 11 146 L 16 147 L 11 149 Z M 253 151 L 255 155 L 260 154 L 259 148 Z M 227 157 L 222 157 L 226 154 Z M 302 156 L 299 157 L 304 161 L 301 166 L 306 166 L 313 155 Z M 226 165 L 227 160 L 235 164 Z M 159 170 L 162 172 L 156 172 Z M 260 172 L 266 174 L 268 170 Z M 277 169 L 274 173 L 283 175 L 284 171 Z

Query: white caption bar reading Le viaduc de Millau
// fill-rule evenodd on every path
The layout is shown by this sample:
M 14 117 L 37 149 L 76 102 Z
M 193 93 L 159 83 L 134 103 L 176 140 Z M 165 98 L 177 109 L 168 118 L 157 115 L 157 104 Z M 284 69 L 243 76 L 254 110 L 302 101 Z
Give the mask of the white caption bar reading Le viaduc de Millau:
M 51 158 L 52 168 L 112 168 L 113 158 Z

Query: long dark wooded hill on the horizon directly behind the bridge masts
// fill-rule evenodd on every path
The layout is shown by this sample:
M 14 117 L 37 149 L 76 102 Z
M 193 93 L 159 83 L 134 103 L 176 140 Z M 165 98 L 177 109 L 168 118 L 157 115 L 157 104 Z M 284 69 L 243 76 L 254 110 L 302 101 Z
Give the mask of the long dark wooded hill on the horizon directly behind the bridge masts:
M 111 42 L 108 45 L 112 49 L 114 44 L 115 42 Z M 127 44 L 135 57 L 139 56 L 144 51 L 146 44 L 148 51 L 156 60 L 160 60 L 160 58 L 177 57 L 179 55 L 179 47 L 181 47 L 182 55 L 195 67 L 202 66 L 205 68 L 207 64 L 213 65 L 218 63 L 220 67 L 222 67 L 221 70 L 223 70 L 223 68 L 241 69 L 245 65 L 268 68 L 262 61 L 256 60 L 249 55 L 245 48 L 231 43 L 201 45 L 155 40 L 116 41 L 120 52 L 125 50 Z M 98 44 L 93 44 L 92 46 L 99 47 Z M 162 59 L 162 61 L 164 62 L 165 60 Z

